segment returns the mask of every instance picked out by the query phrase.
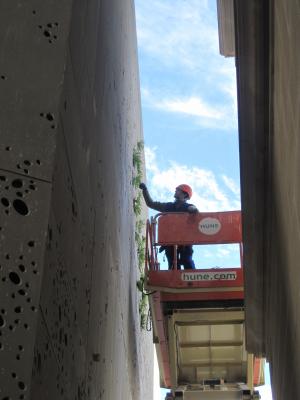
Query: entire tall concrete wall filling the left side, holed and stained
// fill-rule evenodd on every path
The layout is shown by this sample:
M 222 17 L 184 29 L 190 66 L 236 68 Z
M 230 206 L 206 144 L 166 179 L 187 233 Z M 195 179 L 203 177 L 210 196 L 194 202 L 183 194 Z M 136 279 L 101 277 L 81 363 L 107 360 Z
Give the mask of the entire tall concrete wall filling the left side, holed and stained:
M 0 15 L 0 399 L 151 399 L 134 4 L 14 1 Z

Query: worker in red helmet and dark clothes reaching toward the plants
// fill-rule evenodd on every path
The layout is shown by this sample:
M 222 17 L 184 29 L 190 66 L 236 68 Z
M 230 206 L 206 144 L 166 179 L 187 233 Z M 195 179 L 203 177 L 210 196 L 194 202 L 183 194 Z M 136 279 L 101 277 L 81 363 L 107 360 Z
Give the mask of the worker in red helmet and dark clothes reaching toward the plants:
M 148 207 L 159 212 L 188 212 L 197 213 L 198 209 L 193 205 L 187 203 L 192 197 L 192 188 L 189 185 L 182 184 L 177 186 L 174 193 L 175 201 L 169 203 L 161 203 L 153 201 L 147 186 L 144 183 L 140 184 L 140 189 L 143 191 L 143 196 Z M 159 252 L 165 251 L 169 269 L 173 267 L 174 249 L 173 246 L 162 246 Z M 177 248 L 177 269 L 180 269 L 180 265 L 183 265 L 184 269 L 195 269 L 195 263 L 192 258 L 193 246 L 178 246 Z

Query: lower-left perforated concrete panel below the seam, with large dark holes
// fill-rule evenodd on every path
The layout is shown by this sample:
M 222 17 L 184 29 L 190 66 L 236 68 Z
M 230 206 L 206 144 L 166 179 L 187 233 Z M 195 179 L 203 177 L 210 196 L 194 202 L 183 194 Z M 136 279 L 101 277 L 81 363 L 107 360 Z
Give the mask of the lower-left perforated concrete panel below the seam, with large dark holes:
M 0 397 L 30 389 L 50 186 L 0 171 Z

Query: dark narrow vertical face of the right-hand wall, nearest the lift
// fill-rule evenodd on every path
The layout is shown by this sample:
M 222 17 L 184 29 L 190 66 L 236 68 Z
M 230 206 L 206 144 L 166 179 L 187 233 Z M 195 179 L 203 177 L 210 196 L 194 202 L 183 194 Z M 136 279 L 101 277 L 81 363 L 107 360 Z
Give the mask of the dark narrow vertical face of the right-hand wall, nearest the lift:
M 264 273 L 268 202 L 268 3 L 236 1 L 237 88 L 243 222 L 246 341 L 265 353 Z

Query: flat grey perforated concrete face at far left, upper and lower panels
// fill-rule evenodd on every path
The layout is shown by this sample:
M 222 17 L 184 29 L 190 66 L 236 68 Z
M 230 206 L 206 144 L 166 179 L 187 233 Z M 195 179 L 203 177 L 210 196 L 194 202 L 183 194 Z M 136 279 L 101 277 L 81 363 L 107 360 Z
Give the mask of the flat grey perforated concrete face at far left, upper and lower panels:
M 0 398 L 29 398 L 70 1 L 0 4 Z

